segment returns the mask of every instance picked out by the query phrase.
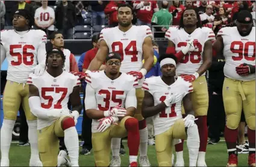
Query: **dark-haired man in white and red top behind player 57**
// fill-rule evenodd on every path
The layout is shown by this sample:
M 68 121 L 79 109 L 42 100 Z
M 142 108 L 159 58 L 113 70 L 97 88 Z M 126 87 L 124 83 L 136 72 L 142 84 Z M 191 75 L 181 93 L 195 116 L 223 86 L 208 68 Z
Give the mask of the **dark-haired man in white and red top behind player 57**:
M 63 35 L 60 32 L 54 31 L 51 35 L 49 35 L 49 40 L 51 41 L 53 48 L 61 49 L 66 56 L 64 70 L 67 72 L 78 72 L 79 70 L 75 55 L 73 55 L 69 49 L 64 49 Z

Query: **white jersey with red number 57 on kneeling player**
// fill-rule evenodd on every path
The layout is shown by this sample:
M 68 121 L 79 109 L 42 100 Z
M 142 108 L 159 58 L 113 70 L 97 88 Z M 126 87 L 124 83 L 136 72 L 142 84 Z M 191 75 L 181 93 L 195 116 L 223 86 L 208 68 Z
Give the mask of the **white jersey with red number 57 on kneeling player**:
M 78 76 L 63 71 L 60 76 L 53 77 L 47 71 L 42 76 L 36 76 L 31 73 L 27 80 L 39 90 L 41 107 L 44 109 L 68 109 L 67 102 L 73 92 L 73 88 L 80 86 L 81 82 Z M 32 111 L 33 112 L 33 111 Z M 49 120 L 37 120 L 37 129 L 43 129 L 50 126 L 57 118 Z

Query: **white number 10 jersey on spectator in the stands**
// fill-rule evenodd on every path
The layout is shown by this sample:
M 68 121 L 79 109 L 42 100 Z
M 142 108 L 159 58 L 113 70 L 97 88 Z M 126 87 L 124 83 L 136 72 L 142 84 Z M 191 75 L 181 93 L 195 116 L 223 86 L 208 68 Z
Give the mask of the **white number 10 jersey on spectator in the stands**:
M 37 21 L 41 26 L 49 25 L 49 23 L 51 22 L 51 17 L 55 19 L 54 9 L 51 7 L 47 7 L 46 9 L 40 7 L 37 8 L 35 12 L 35 19 L 38 18 Z M 54 25 L 49 26 L 48 30 L 54 31 Z

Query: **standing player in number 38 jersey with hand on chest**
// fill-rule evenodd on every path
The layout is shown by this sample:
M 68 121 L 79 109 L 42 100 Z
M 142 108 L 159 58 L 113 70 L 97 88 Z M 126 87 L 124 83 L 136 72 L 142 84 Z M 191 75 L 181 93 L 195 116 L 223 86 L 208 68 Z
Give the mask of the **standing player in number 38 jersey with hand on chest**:
M 182 76 L 193 85 L 193 111 L 198 118 L 195 122 L 200 136 L 197 165 L 206 166 L 208 88 L 205 71 L 211 65 L 212 40 L 215 40 L 215 35 L 212 29 L 202 28 L 199 14 L 195 9 L 186 8 L 181 16 L 180 26 L 170 27 L 165 37 L 169 40 L 166 52 L 175 54 L 179 62 L 177 76 Z M 175 150 L 175 165 L 184 166 L 183 143 L 176 145 Z

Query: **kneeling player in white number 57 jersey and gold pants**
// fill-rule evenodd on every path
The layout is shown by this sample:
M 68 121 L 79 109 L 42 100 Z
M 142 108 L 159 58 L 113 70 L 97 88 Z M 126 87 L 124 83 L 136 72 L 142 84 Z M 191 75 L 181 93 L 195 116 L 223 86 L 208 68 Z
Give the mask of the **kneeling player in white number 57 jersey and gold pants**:
M 57 166 L 58 137 L 64 136 L 69 153 L 70 165 L 78 166 L 79 140 L 75 124 L 82 106 L 81 82 L 77 76 L 63 70 L 64 53 L 52 49 L 46 55 L 47 70 L 42 76 L 30 74 L 31 111 L 38 118 L 39 154 L 43 166 Z M 72 105 L 72 113 L 67 102 Z

